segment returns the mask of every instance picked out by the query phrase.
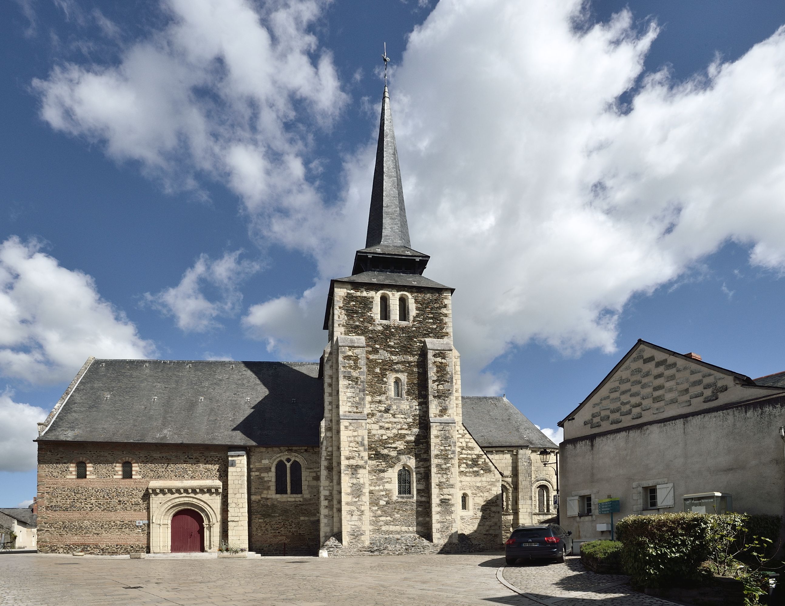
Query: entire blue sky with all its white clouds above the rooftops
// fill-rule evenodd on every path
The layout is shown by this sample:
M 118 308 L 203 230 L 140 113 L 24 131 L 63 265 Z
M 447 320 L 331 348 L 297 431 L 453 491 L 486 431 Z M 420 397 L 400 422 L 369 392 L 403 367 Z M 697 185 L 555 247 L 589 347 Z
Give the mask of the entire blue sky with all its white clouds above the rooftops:
M 579 6 L 0 5 L 0 505 L 89 354 L 318 357 L 382 42 L 466 394 L 553 429 L 639 337 L 783 370 L 785 5 Z

